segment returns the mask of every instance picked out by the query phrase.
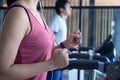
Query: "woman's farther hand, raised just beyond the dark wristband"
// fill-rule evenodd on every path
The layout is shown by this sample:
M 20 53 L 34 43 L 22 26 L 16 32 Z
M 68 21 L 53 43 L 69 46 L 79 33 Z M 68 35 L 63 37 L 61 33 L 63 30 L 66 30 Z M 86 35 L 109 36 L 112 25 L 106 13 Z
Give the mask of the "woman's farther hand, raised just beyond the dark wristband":
M 80 30 L 77 30 L 69 35 L 67 40 L 63 42 L 65 47 L 75 49 L 78 49 L 80 43 L 82 43 L 82 33 L 80 32 Z

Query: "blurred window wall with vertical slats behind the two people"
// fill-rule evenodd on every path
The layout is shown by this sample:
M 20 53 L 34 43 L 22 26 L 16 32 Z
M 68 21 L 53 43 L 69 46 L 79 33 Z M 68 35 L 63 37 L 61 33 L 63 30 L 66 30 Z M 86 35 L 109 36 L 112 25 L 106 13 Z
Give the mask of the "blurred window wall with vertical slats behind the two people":
M 99 47 L 109 35 L 117 56 L 120 57 L 120 0 L 69 0 L 72 15 L 67 19 L 68 35 L 76 29 L 82 32 L 81 47 Z M 49 24 L 56 14 L 56 0 L 42 0 L 44 17 Z M 7 9 L 6 0 L 0 0 L 0 30 Z M 12 20 L 12 19 L 11 19 Z

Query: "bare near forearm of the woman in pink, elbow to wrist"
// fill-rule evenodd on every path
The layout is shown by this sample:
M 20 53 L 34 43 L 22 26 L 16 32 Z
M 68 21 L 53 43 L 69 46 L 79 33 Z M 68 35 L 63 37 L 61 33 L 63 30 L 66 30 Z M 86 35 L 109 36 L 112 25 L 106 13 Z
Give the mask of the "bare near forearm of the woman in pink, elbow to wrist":
M 33 64 L 14 64 L 9 69 L 0 71 L 0 80 L 24 80 L 53 69 L 50 60 Z

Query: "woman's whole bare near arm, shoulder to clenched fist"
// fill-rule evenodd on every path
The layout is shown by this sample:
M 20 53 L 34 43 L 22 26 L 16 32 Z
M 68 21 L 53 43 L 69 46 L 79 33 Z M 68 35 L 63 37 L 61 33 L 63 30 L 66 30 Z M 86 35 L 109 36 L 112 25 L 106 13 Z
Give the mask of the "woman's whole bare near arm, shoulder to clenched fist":
M 29 32 L 29 26 L 24 9 L 16 7 L 7 13 L 0 40 L 0 80 L 23 80 L 68 65 L 66 50 L 54 51 L 52 58 L 48 61 L 14 64 L 20 43 Z M 56 56 L 60 57 L 56 58 Z

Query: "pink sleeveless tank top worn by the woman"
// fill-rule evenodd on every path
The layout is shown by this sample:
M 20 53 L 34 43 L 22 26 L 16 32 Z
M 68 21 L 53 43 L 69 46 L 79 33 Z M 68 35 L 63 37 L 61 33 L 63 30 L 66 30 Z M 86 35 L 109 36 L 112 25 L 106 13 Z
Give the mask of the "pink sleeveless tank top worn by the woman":
M 55 42 L 53 33 L 46 25 L 41 14 L 40 16 L 46 25 L 45 29 L 29 9 L 18 2 L 13 3 L 11 8 L 15 6 L 25 9 L 31 25 L 30 33 L 23 38 L 20 44 L 15 64 L 31 64 L 48 60 L 51 57 L 52 48 Z M 47 72 L 26 80 L 46 80 L 46 76 Z

